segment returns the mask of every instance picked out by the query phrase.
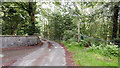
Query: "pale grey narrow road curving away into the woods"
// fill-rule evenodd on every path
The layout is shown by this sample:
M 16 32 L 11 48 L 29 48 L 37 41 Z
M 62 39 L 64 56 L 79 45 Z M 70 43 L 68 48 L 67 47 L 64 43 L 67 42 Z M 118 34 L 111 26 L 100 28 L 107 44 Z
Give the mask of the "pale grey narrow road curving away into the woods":
M 36 50 L 17 59 L 11 66 L 65 66 L 65 50 L 58 43 L 43 41 L 44 44 Z M 48 43 L 53 46 L 48 48 Z

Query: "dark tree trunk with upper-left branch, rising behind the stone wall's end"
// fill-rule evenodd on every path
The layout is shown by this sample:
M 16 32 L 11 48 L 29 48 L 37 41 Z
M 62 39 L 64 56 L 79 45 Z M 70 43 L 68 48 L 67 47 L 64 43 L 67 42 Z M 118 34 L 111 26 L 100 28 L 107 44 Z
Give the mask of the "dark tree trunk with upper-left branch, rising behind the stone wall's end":
M 35 10 L 36 10 L 36 2 L 29 3 L 17 3 L 24 11 L 27 11 L 30 16 L 29 28 L 27 30 L 28 35 L 33 35 L 37 32 L 35 27 Z

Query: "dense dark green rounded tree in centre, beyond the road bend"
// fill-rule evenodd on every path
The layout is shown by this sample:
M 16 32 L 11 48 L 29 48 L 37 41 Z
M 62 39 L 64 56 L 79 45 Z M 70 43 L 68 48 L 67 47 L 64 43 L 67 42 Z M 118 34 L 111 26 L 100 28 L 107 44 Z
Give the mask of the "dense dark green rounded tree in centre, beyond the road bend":
M 49 28 L 49 31 L 53 32 L 53 35 L 48 35 L 51 38 L 54 38 L 54 40 L 62 40 L 65 36 L 67 31 L 72 30 L 74 27 L 74 24 L 72 22 L 72 18 L 70 15 L 65 14 L 65 16 L 58 13 L 52 13 L 51 16 L 49 16 L 49 27 L 45 27 L 45 29 Z M 51 34 L 50 32 L 47 32 Z M 69 35 L 70 36 L 70 35 Z M 65 37 L 64 37 L 65 38 Z M 65 39 L 68 39 L 67 37 Z

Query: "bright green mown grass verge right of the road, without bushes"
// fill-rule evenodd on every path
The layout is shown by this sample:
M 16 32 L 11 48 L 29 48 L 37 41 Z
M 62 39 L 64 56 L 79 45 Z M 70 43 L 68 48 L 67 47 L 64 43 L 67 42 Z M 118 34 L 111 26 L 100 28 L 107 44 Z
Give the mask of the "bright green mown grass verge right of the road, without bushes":
M 118 57 L 106 57 L 99 52 L 90 51 L 86 48 L 63 42 L 73 55 L 75 63 L 80 66 L 118 66 Z

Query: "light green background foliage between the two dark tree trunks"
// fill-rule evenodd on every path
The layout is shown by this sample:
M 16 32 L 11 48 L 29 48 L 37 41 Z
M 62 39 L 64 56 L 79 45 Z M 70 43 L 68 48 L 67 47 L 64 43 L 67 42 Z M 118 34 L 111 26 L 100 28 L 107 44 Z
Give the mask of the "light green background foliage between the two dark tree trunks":
M 81 23 L 80 34 L 106 41 L 112 40 L 113 11 L 111 9 L 114 10 L 114 5 L 118 3 L 47 2 L 44 4 L 51 8 L 39 7 L 40 23 L 45 25 L 41 28 L 44 29 L 41 34 L 47 35 L 49 39 L 68 40 L 71 37 L 77 39 L 77 25 Z M 54 9 L 52 9 L 53 5 Z M 100 45 L 99 41 L 90 40 L 90 42 Z

